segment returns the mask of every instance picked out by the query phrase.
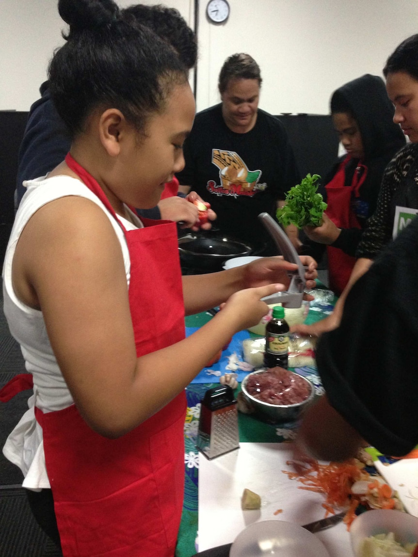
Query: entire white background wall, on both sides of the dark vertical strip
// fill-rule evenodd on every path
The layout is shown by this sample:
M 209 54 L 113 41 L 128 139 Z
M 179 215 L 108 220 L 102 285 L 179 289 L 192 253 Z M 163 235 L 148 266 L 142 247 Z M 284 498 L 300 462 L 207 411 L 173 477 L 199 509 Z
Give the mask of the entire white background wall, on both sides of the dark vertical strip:
M 143 3 L 158 2 L 142 0 Z M 193 0 L 159 0 L 193 26 Z M 135 0 L 120 0 L 129 6 Z M 200 0 L 197 109 L 218 102 L 225 58 L 248 52 L 261 67 L 261 108 L 327 114 L 330 94 L 364 73 L 382 74 L 387 56 L 418 32 L 417 0 L 229 0 L 229 20 L 206 18 Z M 0 0 L 0 110 L 28 110 L 39 96 L 63 22 L 56 0 Z

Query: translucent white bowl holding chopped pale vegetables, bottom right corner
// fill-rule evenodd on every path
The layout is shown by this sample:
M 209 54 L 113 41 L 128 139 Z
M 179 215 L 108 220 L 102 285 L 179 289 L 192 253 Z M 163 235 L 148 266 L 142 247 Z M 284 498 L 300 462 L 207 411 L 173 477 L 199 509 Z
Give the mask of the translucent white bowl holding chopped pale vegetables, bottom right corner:
M 375 509 L 363 512 L 350 527 L 351 545 L 356 557 L 361 557 L 363 540 L 376 534 L 393 532 L 402 545 L 418 542 L 418 518 L 402 511 Z

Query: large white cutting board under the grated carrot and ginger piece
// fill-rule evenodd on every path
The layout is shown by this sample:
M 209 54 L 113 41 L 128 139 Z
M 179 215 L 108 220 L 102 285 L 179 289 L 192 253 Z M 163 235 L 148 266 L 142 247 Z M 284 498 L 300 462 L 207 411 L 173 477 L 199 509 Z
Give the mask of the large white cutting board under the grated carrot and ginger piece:
M 322 519 L 324 495 L 300 490 L 282 470 L 294 471 L 291 443 L 240 443 L 240 448 L 208 461 L 199 455 L 198 549 L 229 544 L 252 522 L 285 520 L 308 524 Z M 243 511 L 244 488 L 261 497 L 261 509 Z M 275 515 L 274 512 L 283 512 Z M 315 534 L 330 557 L 353 557 L 350 536 L 343 523 Z

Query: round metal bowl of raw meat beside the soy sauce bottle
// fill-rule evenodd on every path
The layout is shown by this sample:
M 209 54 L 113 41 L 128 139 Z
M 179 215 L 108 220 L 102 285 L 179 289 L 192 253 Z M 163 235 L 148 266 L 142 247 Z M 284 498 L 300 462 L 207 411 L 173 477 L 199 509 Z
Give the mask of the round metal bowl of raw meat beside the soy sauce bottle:
M 272 423 L 295 421 L 315 397 L 308 379 L 283 368 L 249 373 L 241 391 L 255 414 Z

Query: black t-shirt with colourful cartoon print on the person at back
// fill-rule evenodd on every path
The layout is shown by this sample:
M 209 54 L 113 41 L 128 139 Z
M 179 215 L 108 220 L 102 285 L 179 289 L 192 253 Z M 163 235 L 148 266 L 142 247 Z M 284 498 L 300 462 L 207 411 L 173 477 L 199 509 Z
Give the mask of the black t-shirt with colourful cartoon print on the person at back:
M 299 173 L 283 124 L 264 110 L 254 128 L 231 131 L 218 104 L 196 115 L 184 143 L 186 166 L 177 174 L 217 213 L 213 228 L 276 255 L 278 248 L 257 216 L 275 216 L 276 202 L 297 184 Z

